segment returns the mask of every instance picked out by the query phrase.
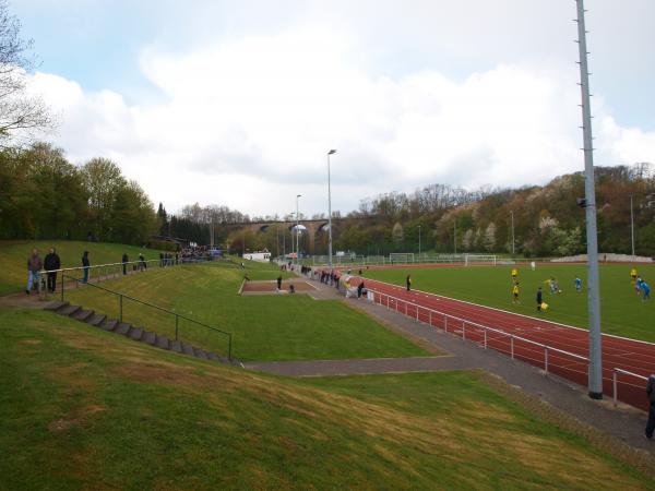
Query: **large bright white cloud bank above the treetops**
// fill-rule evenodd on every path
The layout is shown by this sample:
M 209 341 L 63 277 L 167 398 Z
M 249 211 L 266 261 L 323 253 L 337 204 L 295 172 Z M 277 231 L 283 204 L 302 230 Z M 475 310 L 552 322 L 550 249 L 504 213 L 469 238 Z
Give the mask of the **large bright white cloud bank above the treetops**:
M 463 81 L 437 71 L 369 74 L 350 40 L 321 28 L 230 40 L 184 55 L 146 50 L 158 103 L 37 73 L 74 161 L 115 159 L 168 209 L 222 203 L 285 214 L 303 194 L 333 208 L 431 182 L 468 188 L 540 183 L 583 167 L 574 68 L 499 64 Z M 655 161 L 655 133 L 626 129 L 595 100 L 598 165 Z

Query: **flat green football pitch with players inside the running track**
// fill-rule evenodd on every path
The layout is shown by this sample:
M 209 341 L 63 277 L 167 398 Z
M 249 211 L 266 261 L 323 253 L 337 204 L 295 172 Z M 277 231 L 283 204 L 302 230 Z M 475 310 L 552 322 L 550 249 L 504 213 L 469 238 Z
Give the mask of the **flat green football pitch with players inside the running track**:
M 655 265 L 639 265 L 636 268 L 650 285 L 655 284 Z M 365 276 L 404 286 L 407 274 L 412 274 L 413 288 L 417 290 L 587 327 L 586 266 L 539 264 L 534 272 L 529 266 L 520 266 L 521 304 L 512 303 L 511 270 L 512 266 L 369 270 L 365 272 Z M 652 321 L 655 304 L 641 301 L 641 297 L 630 284 L 630 270 L 629 264 L 600 265 L 603 332 L 655 342 Z M 583 280 L 582 291 L 575 291 L 575 275 L 580 275 Z M 548 292 L 548 285 L 544 282 L 550 277 L 558 280 L 561 294 Z M 549 309 L 537 314 L 536 292 L 539 286 L 544 290 L 544 301 L 549 304 Z

